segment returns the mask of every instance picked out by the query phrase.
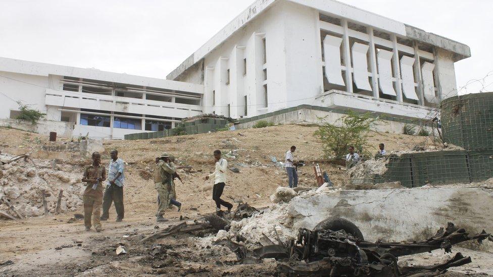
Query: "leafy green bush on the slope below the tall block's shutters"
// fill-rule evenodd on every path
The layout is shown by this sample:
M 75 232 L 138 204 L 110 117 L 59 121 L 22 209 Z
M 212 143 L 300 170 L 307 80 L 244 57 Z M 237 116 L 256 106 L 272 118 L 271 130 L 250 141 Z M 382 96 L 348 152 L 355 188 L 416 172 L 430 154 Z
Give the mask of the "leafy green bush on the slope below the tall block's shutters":
M 350 110 L 347 116 L 336 121 L 339 126 L 329 123 L 326 117 L 319 118 L 323 125 L 315 131 L 314 136 L 322 141 L 324 156 L 340 159 L 346 154 L 349 146 L 354 146 L 362 152 L 367 146 L 367 132 L 378 120 L 370 115 L 359 115 Z

